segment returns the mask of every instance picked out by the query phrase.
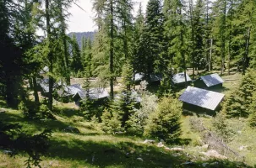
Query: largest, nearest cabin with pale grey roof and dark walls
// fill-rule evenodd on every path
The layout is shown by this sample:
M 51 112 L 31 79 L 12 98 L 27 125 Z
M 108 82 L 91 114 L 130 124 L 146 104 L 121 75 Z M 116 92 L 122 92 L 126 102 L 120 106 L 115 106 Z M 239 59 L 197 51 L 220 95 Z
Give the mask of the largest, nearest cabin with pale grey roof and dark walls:
M 224 94 L 219 92 L 212 92 L 197 87 L 187 87 L 185 92 L 179 97 L 179 100 L 183 102 L 184 109 L 213 113 L 220 107 L 224 96 Z

